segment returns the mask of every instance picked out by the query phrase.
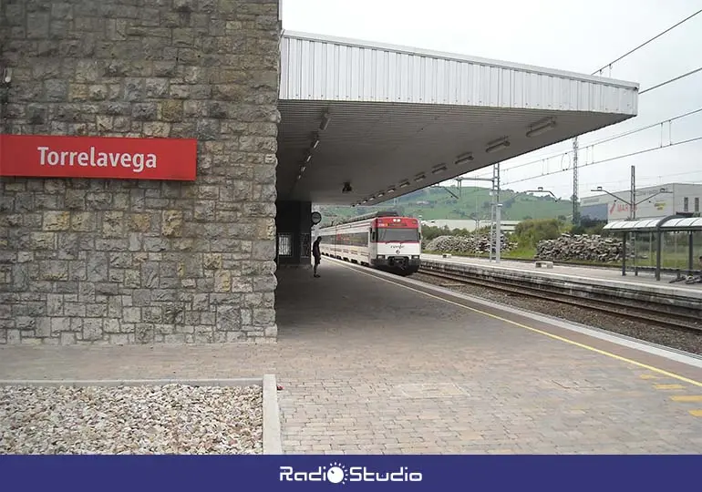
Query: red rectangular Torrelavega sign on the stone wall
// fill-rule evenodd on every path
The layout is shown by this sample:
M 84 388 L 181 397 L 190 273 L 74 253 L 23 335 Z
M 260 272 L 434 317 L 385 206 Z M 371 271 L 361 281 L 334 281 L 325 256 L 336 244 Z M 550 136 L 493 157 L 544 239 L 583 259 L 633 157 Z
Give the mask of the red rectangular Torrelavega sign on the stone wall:
M 0 135 L 0 176 L 192 181 L 191 138 Z

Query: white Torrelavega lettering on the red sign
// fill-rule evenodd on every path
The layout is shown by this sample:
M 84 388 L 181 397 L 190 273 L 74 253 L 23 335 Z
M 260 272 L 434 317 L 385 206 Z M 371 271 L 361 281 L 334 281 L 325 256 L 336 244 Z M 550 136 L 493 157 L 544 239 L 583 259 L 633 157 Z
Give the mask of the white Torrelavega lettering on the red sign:
M 90 147 L 88 152 L 51 150 L 48 147 L 37 147 L 39 163 L 42 166 L 82 166 L 84 168 L 131 168 L 141 172 L 144 168 L 156 169 L 156 154 L 129 154 L 120 152 L 97 152 Z

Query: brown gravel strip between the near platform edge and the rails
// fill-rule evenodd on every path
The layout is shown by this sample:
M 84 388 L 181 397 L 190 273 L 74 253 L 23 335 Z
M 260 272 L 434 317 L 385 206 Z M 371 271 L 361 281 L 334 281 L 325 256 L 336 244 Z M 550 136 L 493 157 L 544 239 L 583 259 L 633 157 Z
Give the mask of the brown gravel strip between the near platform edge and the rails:
M 621 316 L 602 313 L 588 308 L 563 304 L 557 301 L 537 299 L 527 295 L 503 292 L 489 287 L 470 284 L 458 284 L 448 279 L 441 279 L 423 273 L 414 273 L 412 279 L 439 285 L 451 291 L 480 297 L 492 302 L 507 304 L 533 313 L 542 313 L 573 323 L 594 326 L 608 332 L 620 333 L 645 342 L 657 343 L 690 354 L 702 355 L 702 333 L 674 330 L 656 323 L 642 323 L 625 319 Z

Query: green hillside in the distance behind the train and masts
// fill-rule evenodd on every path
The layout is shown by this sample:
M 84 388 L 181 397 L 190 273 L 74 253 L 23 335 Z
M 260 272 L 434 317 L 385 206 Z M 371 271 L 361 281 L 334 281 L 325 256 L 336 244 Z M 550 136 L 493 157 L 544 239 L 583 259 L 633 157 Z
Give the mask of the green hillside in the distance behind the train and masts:
M 400 215 L 422 216 L 423 220 L 478 219 L 490 220 L 490 190 L 477 187 L 447 187 L 459 198 L 454 198 L 444 188 L 433 187 L 417 190 L 397 199 L 387 200 L 374 207 L 322 206 L 323 223 L 353 217 L 374 210 L 397 210 Z M 555 201 L 551 196 L 535 196 L 500 191 L 503 220 L 557 219 L 565 220 L 573 213 L 570 200 Z

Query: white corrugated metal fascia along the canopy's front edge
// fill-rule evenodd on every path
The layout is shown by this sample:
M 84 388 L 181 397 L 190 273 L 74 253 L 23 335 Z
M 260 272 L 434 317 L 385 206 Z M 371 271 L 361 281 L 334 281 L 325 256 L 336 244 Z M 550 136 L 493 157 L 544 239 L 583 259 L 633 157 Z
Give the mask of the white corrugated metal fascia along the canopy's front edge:
M 285 34 L 282 99 L 636 114 L 637 85 L 468 56 Z

